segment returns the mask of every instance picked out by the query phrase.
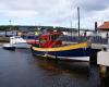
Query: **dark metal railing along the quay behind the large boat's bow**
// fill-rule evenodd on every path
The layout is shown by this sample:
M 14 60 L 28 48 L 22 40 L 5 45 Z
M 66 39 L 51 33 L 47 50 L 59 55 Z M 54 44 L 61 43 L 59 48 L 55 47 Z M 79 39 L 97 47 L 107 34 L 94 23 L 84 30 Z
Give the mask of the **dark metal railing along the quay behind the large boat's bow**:
M 101 44 L 101 45 L 107 45 L 108 44 L 108 38 L 102 38 L 101 36 L 66 36 L 63 35 L 60 38 L 62 41 L 68 41 L 68 42 L 83 42 L 90 40 L 92 44 Z

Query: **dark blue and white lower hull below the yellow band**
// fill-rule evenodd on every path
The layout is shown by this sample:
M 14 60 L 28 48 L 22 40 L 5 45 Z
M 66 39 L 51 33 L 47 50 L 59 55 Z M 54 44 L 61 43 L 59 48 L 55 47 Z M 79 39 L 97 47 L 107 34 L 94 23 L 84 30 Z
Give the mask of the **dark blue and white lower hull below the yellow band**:
M 51 57 L 58 58 L 61 60 L 81 60 L 85 58 L 85 60 L 89 61 L 89 58 L 95 53 L 95 51 L 90 48 L 80 48 L 73 50 L 64 50 L 64 51 L 36 51 L 32 49 L 34 55 L 41 55 L 41 57 Z M 82 61 L 85 61 L 82 60 Z

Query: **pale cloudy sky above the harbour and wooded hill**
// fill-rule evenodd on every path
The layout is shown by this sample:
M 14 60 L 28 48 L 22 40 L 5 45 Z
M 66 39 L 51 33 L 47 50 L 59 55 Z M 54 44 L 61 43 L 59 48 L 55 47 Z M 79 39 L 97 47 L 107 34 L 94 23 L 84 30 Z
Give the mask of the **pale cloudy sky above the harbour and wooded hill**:
M 0 25 L 39 25 L 94 29 L 109 20 L 109 0 L 0 0 Z M 10 22 L 11 21 L 11 22 Z

